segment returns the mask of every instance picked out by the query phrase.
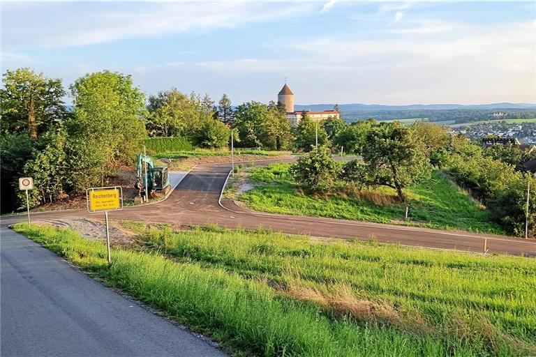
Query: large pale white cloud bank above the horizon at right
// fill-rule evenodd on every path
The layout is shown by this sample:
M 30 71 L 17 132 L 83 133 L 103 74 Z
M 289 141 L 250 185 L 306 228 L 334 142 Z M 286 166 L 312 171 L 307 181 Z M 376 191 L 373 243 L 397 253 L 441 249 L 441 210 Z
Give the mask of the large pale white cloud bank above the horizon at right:
M 449 26 L 433 37 L 295 42 L 288 50 L 301 53 L 291 59 L 197 65 L 226 76 L 287 75 L 297 102 L 536 102 L 536 22 Z

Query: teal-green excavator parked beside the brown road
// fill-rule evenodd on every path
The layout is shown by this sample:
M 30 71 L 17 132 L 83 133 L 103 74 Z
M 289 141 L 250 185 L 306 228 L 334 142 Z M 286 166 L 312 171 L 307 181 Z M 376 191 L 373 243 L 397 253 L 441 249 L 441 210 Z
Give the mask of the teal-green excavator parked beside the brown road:
M 147 181 L 145 179 L 146 176 Z M 153 159 L 142 153 L 138 154 L 137 182 L 135 183 L 135 188 L 137 188 L 138 197 L 140 197 L 139 199 L 142 202 L 145 199 L 145 190 L 147 190 L 148 195 L 152 198 L 165 195 L 170 190 L 168 167 L 155 167 Z

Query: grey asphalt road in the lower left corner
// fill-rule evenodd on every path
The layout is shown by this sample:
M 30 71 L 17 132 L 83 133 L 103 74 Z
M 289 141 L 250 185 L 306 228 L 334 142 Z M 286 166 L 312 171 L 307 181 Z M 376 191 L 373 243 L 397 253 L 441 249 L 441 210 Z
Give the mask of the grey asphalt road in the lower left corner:
M 226 356 L 3 226 L 3 357 Z

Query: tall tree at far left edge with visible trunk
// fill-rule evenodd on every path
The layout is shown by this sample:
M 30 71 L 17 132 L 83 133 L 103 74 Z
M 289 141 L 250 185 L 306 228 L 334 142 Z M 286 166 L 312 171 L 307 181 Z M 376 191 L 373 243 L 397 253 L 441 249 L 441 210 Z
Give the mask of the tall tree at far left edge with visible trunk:
M 0 89 L 2 132 L 27 131 L 36 138 L 66 114 L 61 79 L 45 77 L 29 68 L 7 70 Z

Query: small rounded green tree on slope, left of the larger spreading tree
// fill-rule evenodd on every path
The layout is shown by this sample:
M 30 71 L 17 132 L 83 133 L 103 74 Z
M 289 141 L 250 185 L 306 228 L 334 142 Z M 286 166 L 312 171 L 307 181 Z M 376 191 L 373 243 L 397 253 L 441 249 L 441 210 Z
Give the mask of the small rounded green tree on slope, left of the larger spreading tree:
M 336 186 L 339 166 L 325 146 L 313 149 L 290 167 L 290 174 L 302 187 L 313 192 L 328 192 Z

